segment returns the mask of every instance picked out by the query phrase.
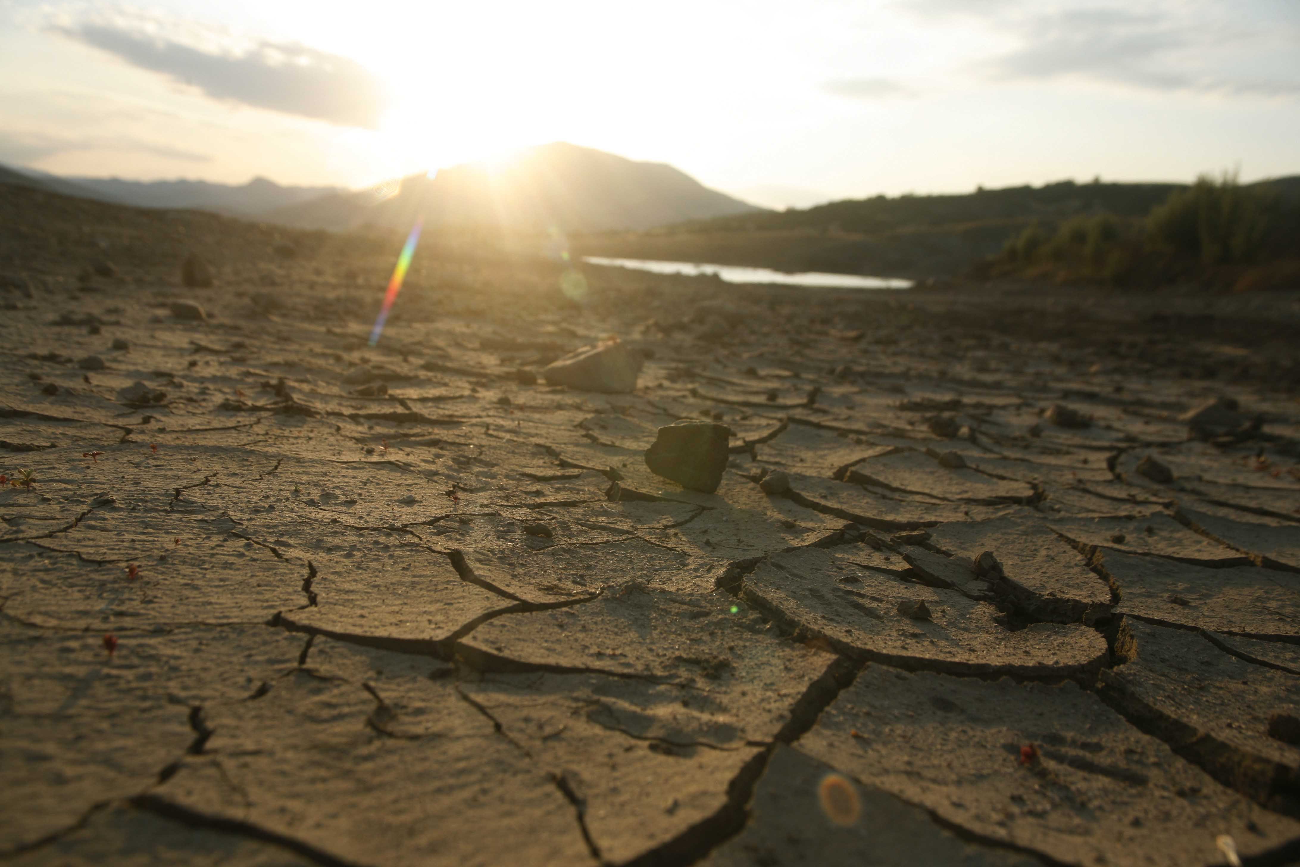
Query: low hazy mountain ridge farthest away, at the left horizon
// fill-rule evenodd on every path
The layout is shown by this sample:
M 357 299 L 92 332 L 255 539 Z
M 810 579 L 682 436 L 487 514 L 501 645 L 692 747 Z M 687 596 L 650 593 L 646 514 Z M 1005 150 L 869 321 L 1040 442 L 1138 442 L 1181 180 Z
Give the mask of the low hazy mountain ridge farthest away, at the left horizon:
M 208 181 L 124 181 L 121 178 L 66 178 L 98 198 L 140 208 L 194 208 L 251 217 L 339 192 L 339 187 L 282 187 L 266 178 L 235 186 Z

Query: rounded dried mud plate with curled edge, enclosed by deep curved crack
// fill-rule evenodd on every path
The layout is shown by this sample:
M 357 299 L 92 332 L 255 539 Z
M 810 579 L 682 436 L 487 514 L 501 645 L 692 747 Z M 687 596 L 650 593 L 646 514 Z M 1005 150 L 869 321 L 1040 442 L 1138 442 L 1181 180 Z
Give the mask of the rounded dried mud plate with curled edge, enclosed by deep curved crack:
M 854 563 L 852 546 L 779 554 L 745 576 L 741 597 L 838 653 L 962 675 L 1089 676 L 1106 643 L 1080 624 L 1010 632 L 997 608 L 956 590 L 904 581 Z M 898 611 L 924 602 L 930 620 Z

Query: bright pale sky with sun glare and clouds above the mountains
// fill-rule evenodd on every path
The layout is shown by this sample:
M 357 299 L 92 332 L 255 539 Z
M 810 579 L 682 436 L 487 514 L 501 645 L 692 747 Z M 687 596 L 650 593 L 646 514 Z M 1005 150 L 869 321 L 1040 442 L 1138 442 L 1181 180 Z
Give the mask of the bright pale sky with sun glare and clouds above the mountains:
M 0 164 L 363 187 L 554 140 L 770 207 L 1300 174 L 1300 0 L 0 0 Z

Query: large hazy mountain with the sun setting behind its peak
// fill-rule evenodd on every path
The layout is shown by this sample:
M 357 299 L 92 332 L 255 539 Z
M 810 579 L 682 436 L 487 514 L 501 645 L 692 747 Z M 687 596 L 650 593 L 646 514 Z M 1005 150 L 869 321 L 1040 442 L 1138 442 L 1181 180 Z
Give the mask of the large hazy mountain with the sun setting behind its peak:
M 641 230 L 688 220 L 762 213 L 662 162 L 636 162 L 564 142 L 503 165 L 465 164 L 429 179 L 404 178 L 396 195 L 334 194 L 263 214 L 303 229 L 426 224 L 588 233 Z

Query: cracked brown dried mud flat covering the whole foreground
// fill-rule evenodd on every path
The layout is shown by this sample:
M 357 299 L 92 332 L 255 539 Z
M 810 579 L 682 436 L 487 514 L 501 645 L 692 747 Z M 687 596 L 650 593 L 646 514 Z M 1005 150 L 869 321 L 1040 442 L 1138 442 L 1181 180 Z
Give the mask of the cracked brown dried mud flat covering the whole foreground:
M 391 244 L 0 225 L 6 863 L 1300 858 L 1294 296 L 433 243 L 372 348 Z M 716 494 L 646 468 L 706 417 Z

